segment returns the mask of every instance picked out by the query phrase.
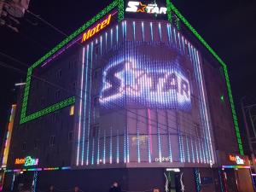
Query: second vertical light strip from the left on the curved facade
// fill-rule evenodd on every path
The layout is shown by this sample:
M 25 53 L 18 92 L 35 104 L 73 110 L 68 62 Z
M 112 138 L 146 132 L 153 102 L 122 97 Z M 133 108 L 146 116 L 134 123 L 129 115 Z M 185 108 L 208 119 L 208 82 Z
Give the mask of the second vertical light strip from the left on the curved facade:
M 84 124 L 83 124 L 83 145 L 82 145 L 82 160 L 81 160 L 81 165 L 84 166 L 84 138 L 85 138 L 85 126 L 86 126 L 86 111 L 87 111 L 87 96 L 88 96 L 88 92 L 87 92 L 87 84 L 88 84 L 88 67 L 89 67 L 89 52 L 90 52 L 90 45 L 87 45 L 87 50 L 86 50 L 86 65 L 85 65 L 85 85 L 83 87 L 83 91 L 84 91 Z

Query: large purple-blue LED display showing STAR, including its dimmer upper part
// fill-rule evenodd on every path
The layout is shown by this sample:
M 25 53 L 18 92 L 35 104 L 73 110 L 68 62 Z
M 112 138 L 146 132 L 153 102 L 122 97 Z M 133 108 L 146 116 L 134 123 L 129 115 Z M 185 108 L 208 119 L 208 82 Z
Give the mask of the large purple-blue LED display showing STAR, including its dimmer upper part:
M 129 56 L 120 51 L 116 56 L 121 59 L 111 59 L 102 72 L 102 106 L 191 108 L 189 79 L 178 59 L 155 59 L 156 55 L 145 55 L 142 50 L 159 47 L 161 51 L 171 52 L 172 48 L 154 43 L 127 44 L 131 47 Z

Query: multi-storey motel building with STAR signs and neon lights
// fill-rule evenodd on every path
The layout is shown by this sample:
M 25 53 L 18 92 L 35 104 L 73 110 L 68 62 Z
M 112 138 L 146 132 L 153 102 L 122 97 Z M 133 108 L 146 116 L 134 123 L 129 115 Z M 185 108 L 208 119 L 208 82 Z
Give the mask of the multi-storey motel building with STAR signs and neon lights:
M 13 108 L 4 190 L 253 191 L 227 66 L 170 0 L 110 2 Z

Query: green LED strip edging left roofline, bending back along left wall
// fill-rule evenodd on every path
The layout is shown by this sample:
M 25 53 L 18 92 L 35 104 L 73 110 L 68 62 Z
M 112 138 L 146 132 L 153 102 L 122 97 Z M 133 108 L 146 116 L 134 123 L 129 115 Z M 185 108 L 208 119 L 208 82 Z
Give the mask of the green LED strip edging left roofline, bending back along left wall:
M 73 38 L 77 38 L 89 26 L 95 23 L 96 20 L 100 20 L 104 15 L 108 14 L 108 12 L 114 8 L 118 8 L 118 20 L 123 20 L 124 19 L 124 0 L 115 0 L 113 1 L 113 3 L 110 3 L 108 7 L 106 7 L 105 9 L 102 9 L 102 11 L 96 16 L 94 16 L 91 20 L 88 20 L 87 22 L 85 22 L 83 26 L 81 26 L 77 31 L 73 32 L 70 36 L 65 38 L 60 44 L 57 44 L 54 49 L 51 49 L 46 55 L 44 55 L 38 61 L 36 61 L 32 65 L 32 67 L 28 68 L 27 75 L 26 75 L 26 88 L 24 90 L 22 108 L 20 113 L 20 124 L 24 124 L 28 121 L 31 121 L 32 119 L 38 119 L 39 117 L 45 114 L 52 113 L 61 108 L 65 108 L 67 106 L 73 105 L 73 103 L 75 102 L 74 96 L 69 97 L 64 101 L 55 103 L 54 105 L 51 105 L 42 110 L 39 110 L 38 112 L 27 115 L 26 109 L 27 109 L 29 90 L 30 90 L 30 85 L 32 80 L 32 71 L 34 68 L 40 66 L 44 61 L 49 59 L 50 56 L 54 55 L 58 50 L 63 48 L 66 44 L 70 43 L 73 40 Z

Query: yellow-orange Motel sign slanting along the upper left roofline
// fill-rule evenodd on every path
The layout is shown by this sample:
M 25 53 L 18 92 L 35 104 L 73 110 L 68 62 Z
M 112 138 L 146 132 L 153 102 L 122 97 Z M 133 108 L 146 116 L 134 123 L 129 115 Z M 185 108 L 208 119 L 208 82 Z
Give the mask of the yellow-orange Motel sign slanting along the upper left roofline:
M 94 35 L 96 35 L 96 33 L 101 32 L 106 26 L 108 26 L 110 24 L 112 16 L 112 14 L 109 14 L 105 20 L 98 22 L 96 26 L 91 27 L 89 30 L 84 32 L 81 43 L 84 43 L 84 41 L 93 37 Z

